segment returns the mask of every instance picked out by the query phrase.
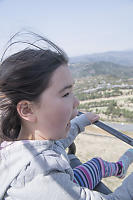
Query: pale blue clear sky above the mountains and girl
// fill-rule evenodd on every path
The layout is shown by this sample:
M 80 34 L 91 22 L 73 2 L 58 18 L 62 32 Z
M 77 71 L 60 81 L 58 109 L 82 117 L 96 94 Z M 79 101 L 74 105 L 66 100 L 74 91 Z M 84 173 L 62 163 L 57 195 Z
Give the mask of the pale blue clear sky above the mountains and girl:
M 23 29 L 70 57 L 133 50 L 133 0 L 0 0 L 0 53 Z

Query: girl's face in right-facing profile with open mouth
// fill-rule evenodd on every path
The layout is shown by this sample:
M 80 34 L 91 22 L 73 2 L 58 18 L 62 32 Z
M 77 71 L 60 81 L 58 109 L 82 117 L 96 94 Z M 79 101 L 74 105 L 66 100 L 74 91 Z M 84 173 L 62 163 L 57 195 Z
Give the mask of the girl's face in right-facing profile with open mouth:
M 70 120 L 77 115 L 79 101 L 73 94 L 73 78 L 66 65 L 55 70 L 49 87 L 35 104 L 35 139 L 65 138 Z

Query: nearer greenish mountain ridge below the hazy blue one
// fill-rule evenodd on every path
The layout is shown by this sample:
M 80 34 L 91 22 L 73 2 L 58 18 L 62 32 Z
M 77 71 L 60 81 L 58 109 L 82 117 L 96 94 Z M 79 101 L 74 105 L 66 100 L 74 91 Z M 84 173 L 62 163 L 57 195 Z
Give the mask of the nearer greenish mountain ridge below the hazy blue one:
M 110 75 L 117 78 L 132 78 L 133 67 L 114 64 L 112 62 L 73 63 L 70 64 L 73 77 Z

